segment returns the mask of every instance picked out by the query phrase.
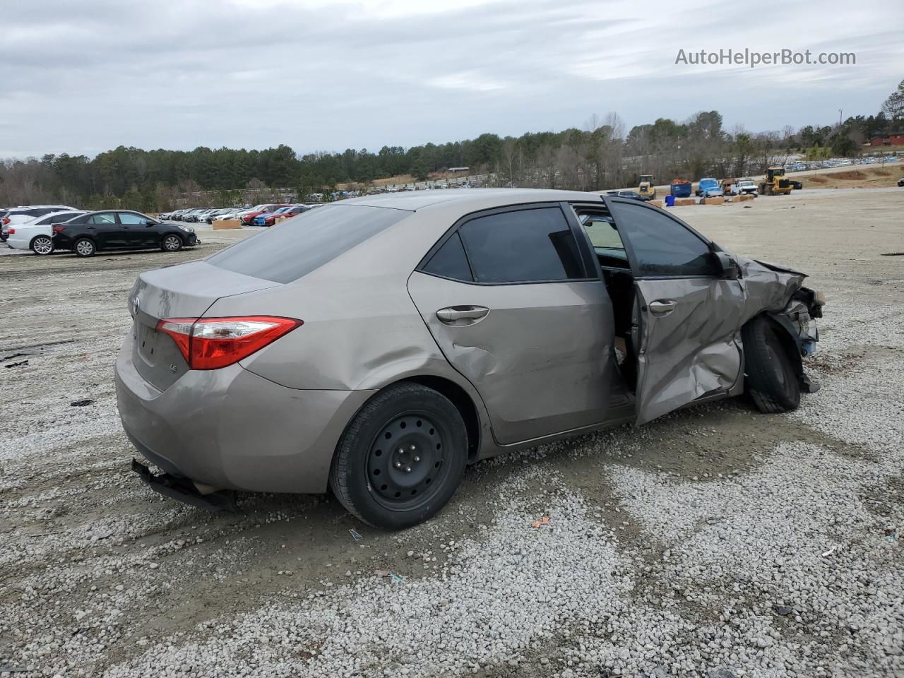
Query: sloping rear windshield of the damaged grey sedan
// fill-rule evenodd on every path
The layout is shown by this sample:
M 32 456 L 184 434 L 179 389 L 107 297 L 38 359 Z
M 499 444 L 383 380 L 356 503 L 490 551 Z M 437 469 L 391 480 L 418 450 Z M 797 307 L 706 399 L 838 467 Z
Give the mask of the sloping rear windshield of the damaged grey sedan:
M 327 205 L 299 214 L 207 259 L 254 278 L 288 283 L 409 216 L 406 210 Z

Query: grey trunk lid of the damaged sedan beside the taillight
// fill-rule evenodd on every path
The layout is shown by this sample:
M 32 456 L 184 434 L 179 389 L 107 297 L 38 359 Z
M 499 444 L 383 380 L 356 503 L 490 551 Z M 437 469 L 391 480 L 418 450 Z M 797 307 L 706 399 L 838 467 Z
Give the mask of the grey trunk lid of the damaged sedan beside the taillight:
M 205 261 L 157 268 L 142 273 L 128 296 L 132 315 L 132 361 L 155 389 L 165 391 L 185 372 L 188 363 L 173 338 L 157 332 L 163 318 L 196 318 L 217 299 L 257 292 L 278 283 L 234 273 Z

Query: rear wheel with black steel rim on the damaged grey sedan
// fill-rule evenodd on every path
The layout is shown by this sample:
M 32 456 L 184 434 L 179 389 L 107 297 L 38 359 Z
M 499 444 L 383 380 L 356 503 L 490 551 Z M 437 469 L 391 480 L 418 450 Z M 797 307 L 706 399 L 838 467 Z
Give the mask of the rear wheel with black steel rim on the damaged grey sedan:
M 456 406 L 426 386 L 400 383 L 369 400 L 345 429 L 330 488 L 364 523 L 401 530 L 438 513 L 466 462 L 467 431 Z

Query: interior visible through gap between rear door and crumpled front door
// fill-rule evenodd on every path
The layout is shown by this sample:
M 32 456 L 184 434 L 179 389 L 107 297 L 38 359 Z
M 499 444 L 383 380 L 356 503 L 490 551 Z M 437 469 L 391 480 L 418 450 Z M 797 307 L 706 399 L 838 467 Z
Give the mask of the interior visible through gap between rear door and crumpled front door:
M 631 318 L 634 314 L 634 277 L 627 260 L 625 244 L 616 229 L 615 221 L 606 210 L 576 208 L 584 230 L 587 231 L 593 250 L 603 272 L 603 280 L 615 322 L 615 349 L 618 369 L 631 391 L 636 390 L 637 353 L 633 345 Z

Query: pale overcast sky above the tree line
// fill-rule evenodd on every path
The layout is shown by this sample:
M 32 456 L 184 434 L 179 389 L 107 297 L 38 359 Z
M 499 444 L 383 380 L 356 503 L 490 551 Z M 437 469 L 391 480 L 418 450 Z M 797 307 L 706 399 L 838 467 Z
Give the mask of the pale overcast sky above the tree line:
M 0 157 L 299 152 L 719 110 L 752 131 L 869 115 L 904 78 L 899 0 L 0 0 Z M 762 7 L 774 11 L 764 12 Z M 675 65 L 855 52 L 852 66 Z

